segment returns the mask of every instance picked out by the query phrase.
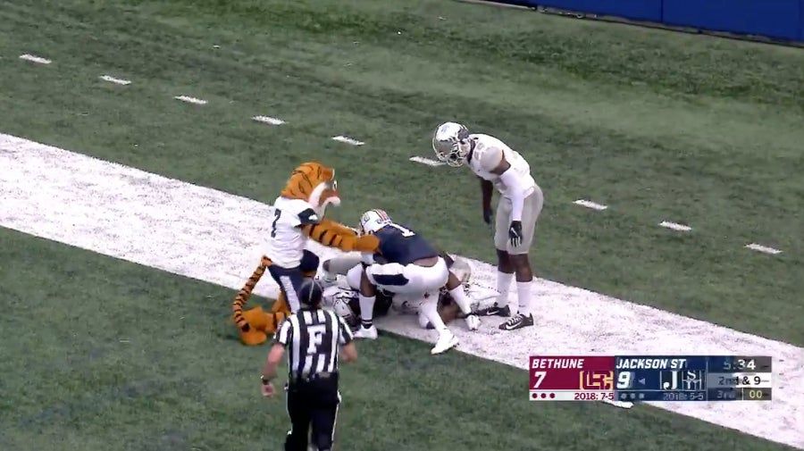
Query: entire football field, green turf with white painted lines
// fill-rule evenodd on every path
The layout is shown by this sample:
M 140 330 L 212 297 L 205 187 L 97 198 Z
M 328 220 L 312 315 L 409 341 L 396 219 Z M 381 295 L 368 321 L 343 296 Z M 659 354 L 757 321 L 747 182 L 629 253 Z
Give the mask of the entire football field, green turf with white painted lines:
M 335 217 L 386 209 L 473 258 L 482 295 L 476 182 L 408 161 L 448 119 L 507 140 L 545 190 L 537 327 L 488 322 L 431 358 L 410 318 L 387 322 L 344 370 L 342 448 L 804 447 L 800 49 L 454 2 L 4 2 L 0 19 L 0 448 L 280 447 L 265 349 L 228 322 L 266 205 L 300 161 L 330 164 Z M 778 400 L 538 404 L 515 368 L 662 352 L 774 355 Z

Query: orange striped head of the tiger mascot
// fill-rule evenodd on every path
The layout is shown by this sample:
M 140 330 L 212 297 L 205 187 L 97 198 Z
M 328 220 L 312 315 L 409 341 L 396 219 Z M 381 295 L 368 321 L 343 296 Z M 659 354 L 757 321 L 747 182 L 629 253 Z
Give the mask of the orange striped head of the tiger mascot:
M 335 170 L 322 163 L 301 163 L 290 173 L 281 196 L 305 200 L 313 205 L 315 213 L 323 216 L 327 205 L 340 205 Z

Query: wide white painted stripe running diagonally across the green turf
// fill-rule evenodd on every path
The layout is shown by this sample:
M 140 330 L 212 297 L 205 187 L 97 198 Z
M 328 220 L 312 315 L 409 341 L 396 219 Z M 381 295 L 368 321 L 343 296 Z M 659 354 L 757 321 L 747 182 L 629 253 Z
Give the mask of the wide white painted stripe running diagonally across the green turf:
M 269 205 L 255 200 L 23 138 L 0 134 L 0 168 L 0 225 L 219 284 L 232 288 L 232 296 L 259 262 L 270 226 L 260 220 Z M 310 248 L 322 259 L 338 255 Z M 488 295 L 483 287 L 496 285 L 496 268 L 469 263 L 473 296 Z M 804 449 L 804 349 L 550 280 L 534 280 L 532 290 L 535 328 L 505 332 L 497 329 L 501 318 L 484 318 L 478 332 L 469 332 L 456 322 L 451 329 L 460 349 L 522 369 L 528 355 L 772 355 L 773 402 L 656 406 Z M 271 278 L 255 290 L 277 291 Z M 214 302 L 229 311 L 230 298 Z M 509 302 L 516 302 L 515 293 Z M 430 343 L 436 338 L 414 315 L 392 315 L 378 325 Z

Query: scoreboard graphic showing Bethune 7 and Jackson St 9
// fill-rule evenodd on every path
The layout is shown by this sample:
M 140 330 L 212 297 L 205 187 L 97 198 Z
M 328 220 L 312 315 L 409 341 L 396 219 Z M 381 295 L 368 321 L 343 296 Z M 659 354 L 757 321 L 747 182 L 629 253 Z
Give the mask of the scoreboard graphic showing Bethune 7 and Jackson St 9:
M 770 401 L 772 358 L 532 355 L 532 401 Z

